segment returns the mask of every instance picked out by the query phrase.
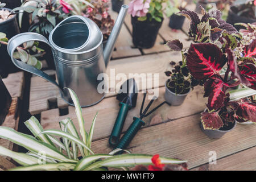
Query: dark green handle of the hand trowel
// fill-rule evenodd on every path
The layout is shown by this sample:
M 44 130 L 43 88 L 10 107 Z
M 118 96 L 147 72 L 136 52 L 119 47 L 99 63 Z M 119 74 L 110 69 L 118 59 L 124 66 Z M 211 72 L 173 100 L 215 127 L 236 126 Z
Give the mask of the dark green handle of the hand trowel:
M 121 106 L 121 108 L 117 115 L 117 119 L 115 119 L 115 125 L 109 138 L 109 144 L 113 147 L 115 147 L 119 141 L 128 110 L 131 108 L 131 106 L 123 102 L 120 102 L 119 105 Z

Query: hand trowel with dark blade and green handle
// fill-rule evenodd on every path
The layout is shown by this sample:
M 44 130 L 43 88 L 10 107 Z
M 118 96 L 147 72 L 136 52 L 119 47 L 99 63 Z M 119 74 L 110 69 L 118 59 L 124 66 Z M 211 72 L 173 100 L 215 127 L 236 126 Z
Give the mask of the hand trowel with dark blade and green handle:
M 130 78 L 129 80 L 123 82 L 117 94 L 117 100 L 120 101 L 120 109 L 117 115 L 117 119 L 115 119 L 115 124 L 109 138 L 109 144 L 112 147 L 115 147 L 119 142 L 127 113 L 132 107 L 136 106 L 137 96 L 138 89 L 134 78 Z

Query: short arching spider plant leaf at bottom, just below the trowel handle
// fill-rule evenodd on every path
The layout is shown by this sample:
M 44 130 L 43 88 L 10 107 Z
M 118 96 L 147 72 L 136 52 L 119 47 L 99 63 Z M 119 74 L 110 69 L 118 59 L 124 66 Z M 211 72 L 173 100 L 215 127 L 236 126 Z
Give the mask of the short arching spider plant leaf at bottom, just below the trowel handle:
M 89 164 L 92 164 L 95 160 L 102 159 L 102 158 L 111 158 L 112 156 L 113 155 L 106 155 L 106 154 L 96 154 L 96 155 L 86 156 L 84 159 L 80 160 L 80 162 L 76 164 L 76 167 L 74 170 L 82 171 Z

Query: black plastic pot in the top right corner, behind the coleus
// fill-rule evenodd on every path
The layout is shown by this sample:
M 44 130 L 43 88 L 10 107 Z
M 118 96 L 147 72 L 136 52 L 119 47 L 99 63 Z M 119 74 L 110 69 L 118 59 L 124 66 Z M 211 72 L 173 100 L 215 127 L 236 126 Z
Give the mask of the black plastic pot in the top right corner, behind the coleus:
M 235 23 L 254 23 L 256 22 L 256 18 L 247 18 L 245 16 L 239 16 L 237 15 L 235 12 L 236 7 L 232 6 L 229 9 L 229 14 L 228 14 L 228 18 L 226 20 L 227 23 L 232 24 L 235 28 L 237 28 L 237 30 L 240 30 L 240 28 L 242 28 L 241 26 L 235 26 Z

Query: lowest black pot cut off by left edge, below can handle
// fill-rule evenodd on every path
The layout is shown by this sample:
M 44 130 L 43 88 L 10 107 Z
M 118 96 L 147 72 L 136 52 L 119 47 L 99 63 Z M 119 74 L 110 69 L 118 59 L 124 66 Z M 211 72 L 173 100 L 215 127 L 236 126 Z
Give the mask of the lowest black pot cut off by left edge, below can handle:
M 2 78 L 0 76 L 0 125 L 5 121 L 5 117 L 8 114 L 11 105 L 11 96 L 6 89 L 5 84 L 3 84 Z

